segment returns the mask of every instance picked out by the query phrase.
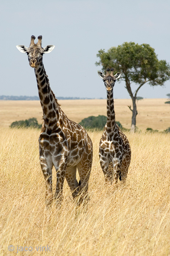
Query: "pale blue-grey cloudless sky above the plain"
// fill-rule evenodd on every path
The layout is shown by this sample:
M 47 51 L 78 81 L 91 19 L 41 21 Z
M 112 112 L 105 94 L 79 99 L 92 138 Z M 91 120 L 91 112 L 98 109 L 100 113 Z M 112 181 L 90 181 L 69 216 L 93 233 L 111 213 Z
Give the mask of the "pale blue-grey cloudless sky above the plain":
M 56 46 L 43 57 L 56 98 L 105 98 L 96 54 L 126 41 L 150 44 L 159 60 L 170 63 L 169 0 L 7 0 L 0 3 L 0 24 L 0 95 L 38 96 L 27 55 L 16 49 L 29 47 L 31 35 L 42 35 L 43 47 Z M 124 86 L 115 84 L 114 98 L 130 98 Z M 166 98 L 167 93 L 170 81 L 164 88 L 146 84 L 138 96 Z

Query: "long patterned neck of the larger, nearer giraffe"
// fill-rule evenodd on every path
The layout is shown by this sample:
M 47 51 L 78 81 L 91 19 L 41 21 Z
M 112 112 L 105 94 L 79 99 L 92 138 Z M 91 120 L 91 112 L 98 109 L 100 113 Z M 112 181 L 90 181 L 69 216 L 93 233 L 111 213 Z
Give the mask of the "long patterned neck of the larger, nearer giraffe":
M 38 94 L 41 102 L 45 126 L 54 129 L 59 119 L 58 109 L 60 108 L 55 96 L 50 89 L 49 79 L 46 75 L 43 63 L 35 69 L 37 78 Z

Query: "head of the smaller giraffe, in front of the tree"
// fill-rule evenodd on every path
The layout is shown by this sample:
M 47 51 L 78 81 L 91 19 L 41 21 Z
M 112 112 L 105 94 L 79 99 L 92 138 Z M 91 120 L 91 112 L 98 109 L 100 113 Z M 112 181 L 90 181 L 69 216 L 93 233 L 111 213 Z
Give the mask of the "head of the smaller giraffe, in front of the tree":
M 111 71 L 111 72 L 109 73 L 109 71 Z M 111 68 L 111 69 L 107 68 L 106 75 L 104 75 L 102 72 L 98 71 L 98 75 L 100 76 L 100 78 L 103 79 L 107 91 L 111 91 L 113 89 L 116 80 L 118 78 L 120 78 L 120 76 L 122 74 L 121 72 L 118 72 L 118 73 L 116 73 L 116 75 L 113 75 L 113 71 L 114 71 L 113 68 Z

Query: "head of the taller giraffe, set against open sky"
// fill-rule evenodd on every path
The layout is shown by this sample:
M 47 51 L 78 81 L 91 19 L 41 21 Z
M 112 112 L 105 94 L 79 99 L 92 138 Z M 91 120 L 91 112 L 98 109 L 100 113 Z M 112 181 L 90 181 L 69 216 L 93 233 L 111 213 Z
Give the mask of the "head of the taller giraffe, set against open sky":
M 38 36 L 37 44 L 34 43 L 35 37 L 31 36 L 30 47 L 24 45 L 16 45 L 16 48 L 22 52 L 27 53 L 29 64 L 32 68 L 36 68 L 42 62 L 44 53 L 50 53 L 54 49 L 54 45 L 47 45 L 45 48 L 41 47 L 42 35 Z

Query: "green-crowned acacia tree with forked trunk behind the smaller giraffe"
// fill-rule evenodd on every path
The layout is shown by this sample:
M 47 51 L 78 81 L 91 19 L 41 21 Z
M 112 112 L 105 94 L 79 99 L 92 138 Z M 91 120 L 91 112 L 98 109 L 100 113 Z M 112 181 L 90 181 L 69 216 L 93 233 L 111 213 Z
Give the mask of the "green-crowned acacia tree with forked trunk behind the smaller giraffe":
M 139 89 L 148 83 L 151 86 L 163 86 L 165 81 L 170 79 L 170 65 L 166 60 L 158 60 L 155 50 L 149 44 L 135 44 L 124 42 L 122 45 L 110 48 L 107 52 L 99 50 L 97 57 L 99 62 L 95 65 L 102 65 L 102 71 L 114 67 L 115 72 L 122 72 L 121 79 L 125 81 L 125 88 L 132 98 L 133 107 L 128 106 L 132 111 L 131 131 L 136 129 L 136 97 Z M 131 83 L 137 85 L 133 93 Z

